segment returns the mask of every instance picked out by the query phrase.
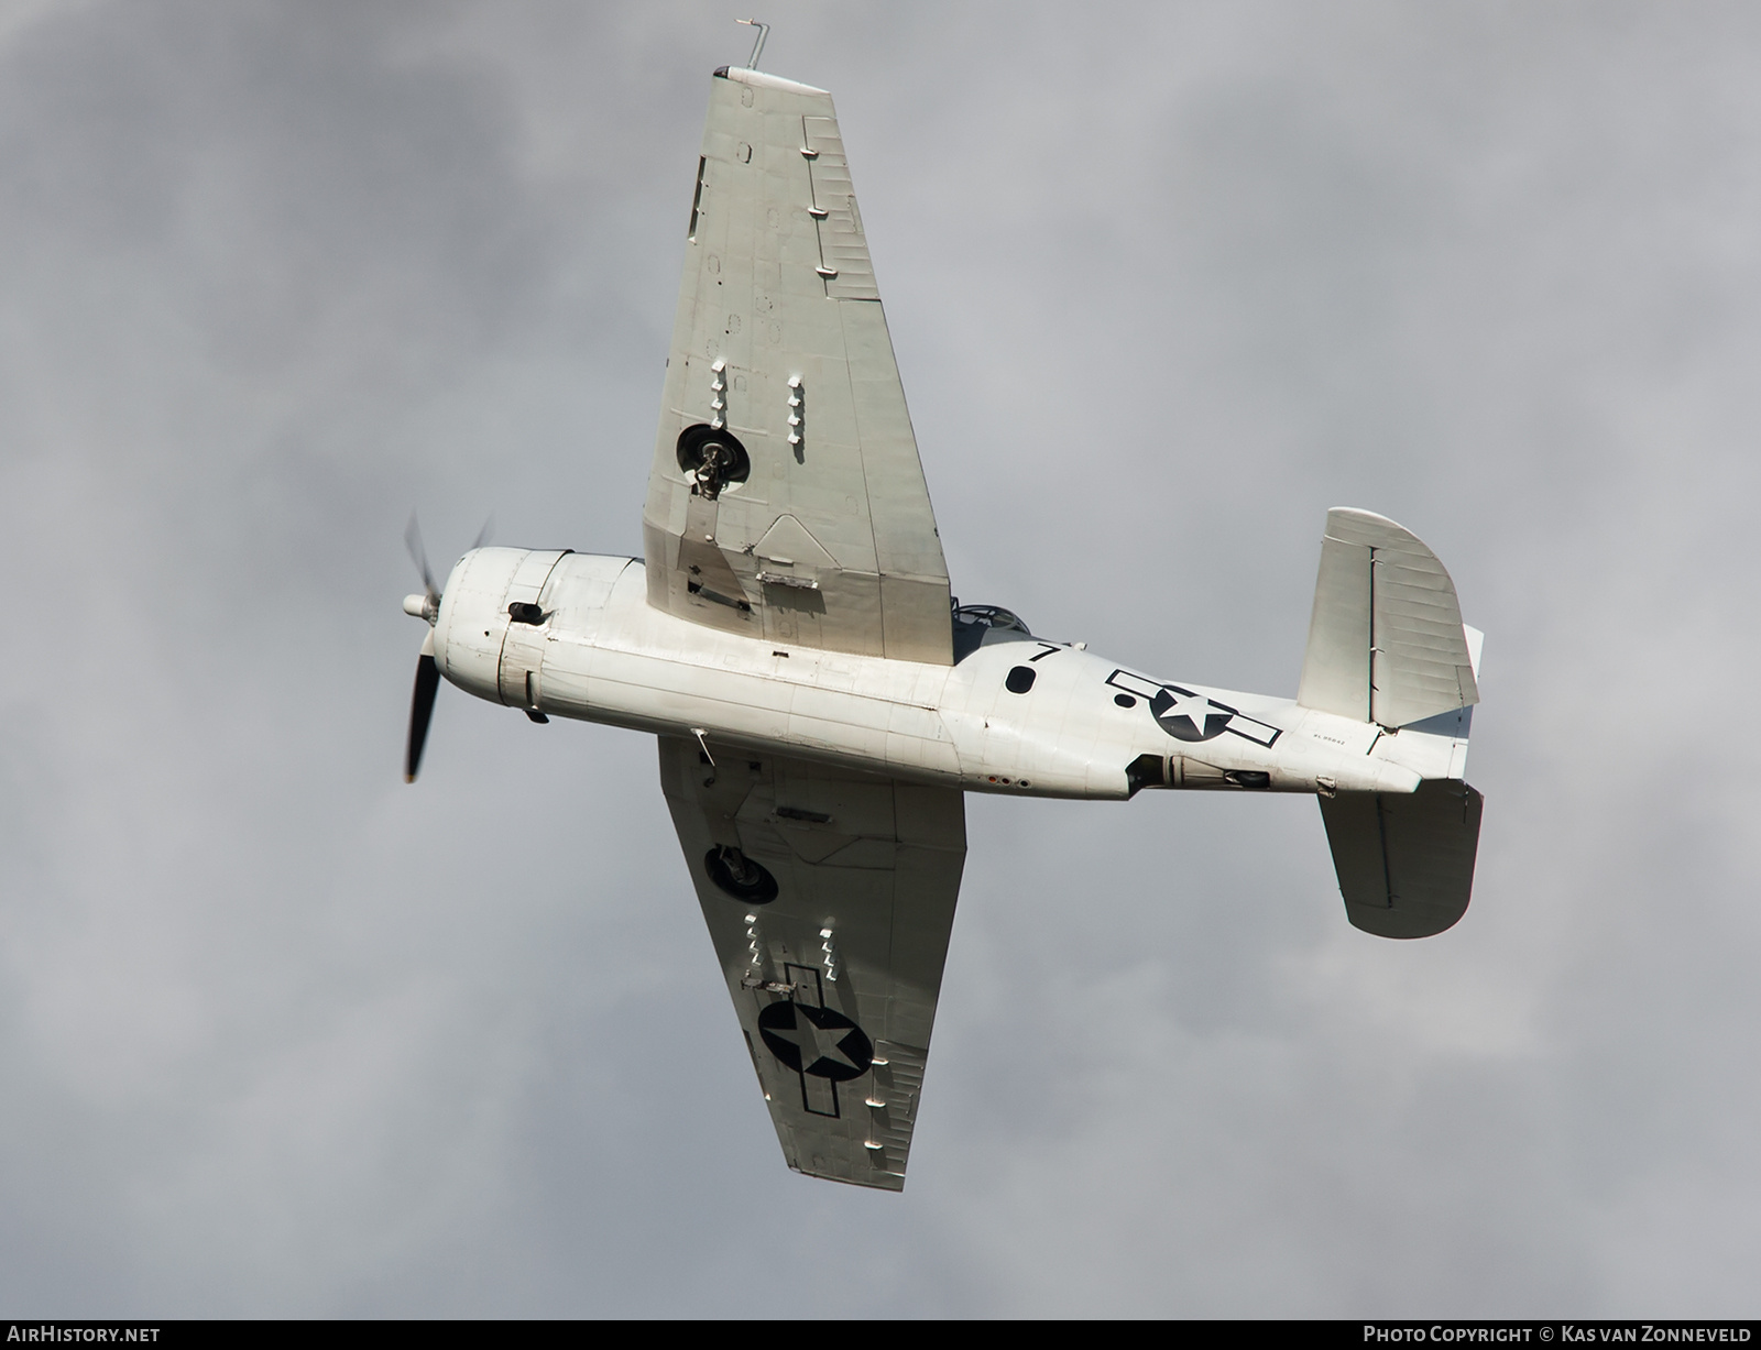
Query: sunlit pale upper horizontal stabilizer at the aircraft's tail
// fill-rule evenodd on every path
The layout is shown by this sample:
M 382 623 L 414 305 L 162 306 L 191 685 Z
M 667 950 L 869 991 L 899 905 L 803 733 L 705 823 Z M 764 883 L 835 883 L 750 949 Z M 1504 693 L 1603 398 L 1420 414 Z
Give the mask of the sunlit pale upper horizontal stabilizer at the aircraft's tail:
M 1437 554 L 1384 516 L 1330 510 L 1296 702 L 1405 727 L 1479 702 L 1476 665 Z

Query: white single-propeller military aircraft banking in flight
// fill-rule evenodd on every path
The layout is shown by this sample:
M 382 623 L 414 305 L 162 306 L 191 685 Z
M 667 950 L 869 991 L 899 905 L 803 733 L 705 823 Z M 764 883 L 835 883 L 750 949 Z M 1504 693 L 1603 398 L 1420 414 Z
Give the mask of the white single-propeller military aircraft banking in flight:
M 534 722 L 655 734 L 799 1172 L 905 1185 L 967 792 L 1308 792 L 1352 924 L 1416 938 L 1467 908 L 1481 639 L 1437 556 L 1328 512 L 1294 699 L 1169 683 L 962 605 L 831 95 L 752 67 L 710 81 L 643 544 L 474 547 L 444 588 L 423 563 L 405 778 L 442 676 Z

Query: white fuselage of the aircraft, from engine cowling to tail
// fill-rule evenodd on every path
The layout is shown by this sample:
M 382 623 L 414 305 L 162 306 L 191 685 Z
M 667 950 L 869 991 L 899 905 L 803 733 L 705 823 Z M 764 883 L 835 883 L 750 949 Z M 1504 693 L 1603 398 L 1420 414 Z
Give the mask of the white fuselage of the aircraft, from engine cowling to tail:
M 511 708 L 697 737 L 711 755 L 798 755 L 969 792 L 1411 792 L 1423 778 L 1460 778 L 1467 753 L 1455 736 L 1168 685 L 1025 634 L 993 634 L 954 665 L 780 646 L 652 607 L 643 561 L 623 556 L 467 553 L 446 584 L 433 655 L 453 685 Z M 1014 692 L 1023 667 L 1030 686 Z M 1159 718 L 1159 704 L 1199 715 Z

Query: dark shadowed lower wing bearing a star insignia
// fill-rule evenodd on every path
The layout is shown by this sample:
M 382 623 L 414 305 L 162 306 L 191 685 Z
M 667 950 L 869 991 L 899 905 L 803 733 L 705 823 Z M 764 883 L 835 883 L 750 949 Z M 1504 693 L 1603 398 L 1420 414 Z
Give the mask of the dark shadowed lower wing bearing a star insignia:
M 789 1167 L 902 1190 L 967 857 L 958 790 L 660 737 L 660 785 Z

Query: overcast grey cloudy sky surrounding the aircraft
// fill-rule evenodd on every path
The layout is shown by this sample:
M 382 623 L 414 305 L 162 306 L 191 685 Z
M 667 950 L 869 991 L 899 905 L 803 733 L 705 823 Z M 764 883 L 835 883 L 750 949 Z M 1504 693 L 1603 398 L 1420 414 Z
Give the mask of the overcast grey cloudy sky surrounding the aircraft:
M 969 803 L 910 1183 L 791 1174 L 648 737 L 402 533 L 639 549 L 722 5 L 0 4 L 0 1311 L 1754 1315 L 1761 11 L 794 5 L 954 588 L 1289 693 L 1486 630 L 1474 903 Z

